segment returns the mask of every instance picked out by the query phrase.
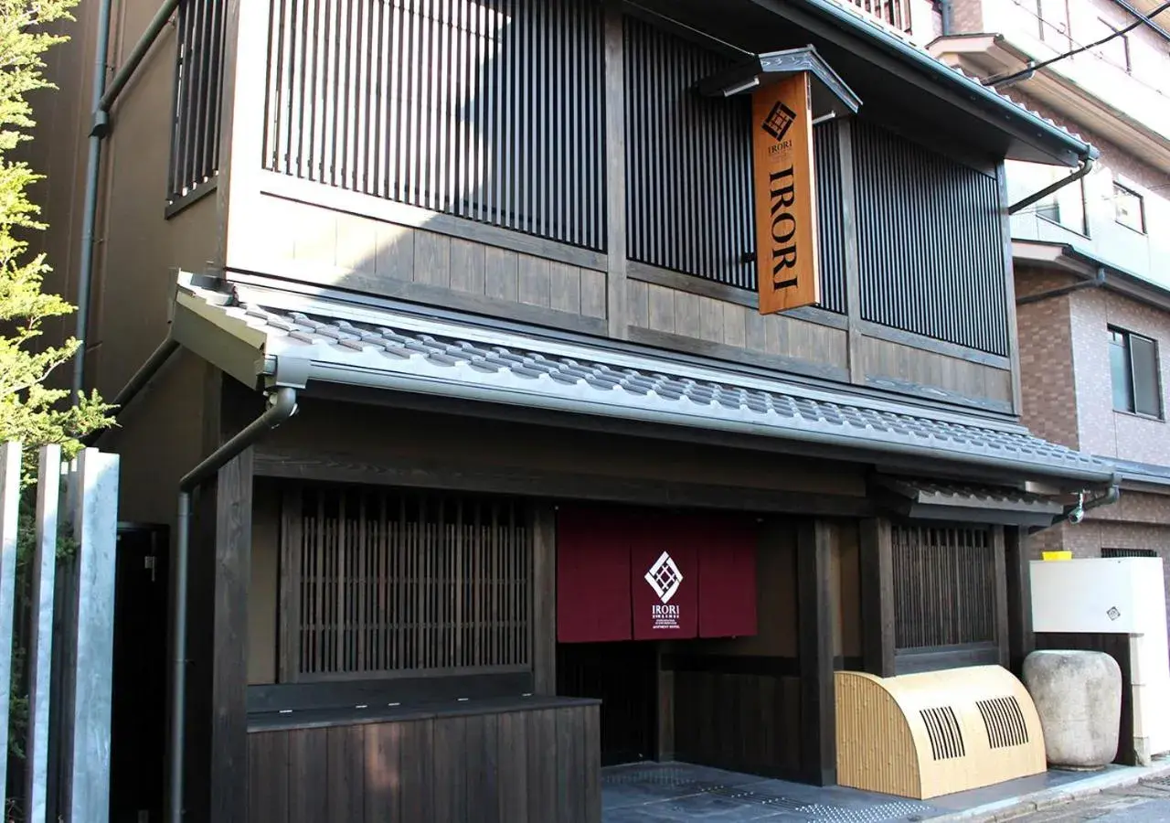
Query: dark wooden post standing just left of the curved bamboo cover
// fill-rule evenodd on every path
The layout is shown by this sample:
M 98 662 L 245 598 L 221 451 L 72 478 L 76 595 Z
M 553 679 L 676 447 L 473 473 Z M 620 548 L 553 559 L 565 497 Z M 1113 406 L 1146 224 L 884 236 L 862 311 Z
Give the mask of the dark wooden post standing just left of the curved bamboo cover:
M 832 526 L 824 520 L 803 520 L 797 527 L 800 770 L 815 786 L 837 783 L 832 540 Z

